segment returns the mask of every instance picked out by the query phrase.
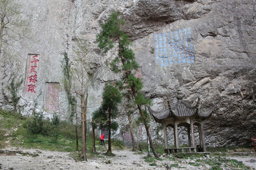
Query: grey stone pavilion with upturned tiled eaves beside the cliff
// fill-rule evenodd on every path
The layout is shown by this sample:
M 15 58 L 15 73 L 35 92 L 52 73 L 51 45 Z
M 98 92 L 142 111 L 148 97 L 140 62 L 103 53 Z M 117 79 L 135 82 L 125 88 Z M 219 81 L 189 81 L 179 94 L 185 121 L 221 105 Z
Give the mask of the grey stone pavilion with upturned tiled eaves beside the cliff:
M 178 91 L 177 94 L 178 101 L 174 106 L 170 106 L 170 102 L 168 101 L 169 108 L 167 109 L 160 111 L 149 109 L 155 121 L 164 125 L 165 153 L 206 152 L 203 120 L 210 118 L 215 106 L 209 110 L 200 111 L 198 109 L 200 98 L 192 106 L 183 101 L 181 91 Z M 200 147 L 196 147 L 195 145 L 194 125 L 198 126 Z M 174 148 L 168 147 L 167 127 L 173 127 L 174 129 Z M 178 127 L 187 127 L 189 147 L 179 147 Z

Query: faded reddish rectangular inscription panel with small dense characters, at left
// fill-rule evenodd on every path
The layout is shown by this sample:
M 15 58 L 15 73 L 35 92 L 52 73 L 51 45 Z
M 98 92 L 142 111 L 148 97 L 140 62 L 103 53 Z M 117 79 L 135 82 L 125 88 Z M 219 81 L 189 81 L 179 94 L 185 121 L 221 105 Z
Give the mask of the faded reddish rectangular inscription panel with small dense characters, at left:
M 46 83 L 44 108 L 47 111 L 57 111 L 59 102 L 59 83 Z

